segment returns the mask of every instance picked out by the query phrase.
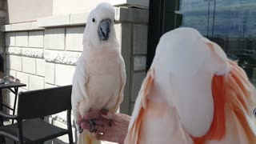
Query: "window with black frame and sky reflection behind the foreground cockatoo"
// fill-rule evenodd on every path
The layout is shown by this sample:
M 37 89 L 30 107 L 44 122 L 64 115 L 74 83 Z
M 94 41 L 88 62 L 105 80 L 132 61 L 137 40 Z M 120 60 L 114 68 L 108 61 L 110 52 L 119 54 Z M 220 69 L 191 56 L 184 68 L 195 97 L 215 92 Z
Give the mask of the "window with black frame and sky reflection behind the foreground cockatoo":
M 255 15 L 255 0 L 151 0 L 149 31 L 154 35 L 149 35 L 147 64 L 162 34 L 177 27 L 194 27 L 217 42 L 228 58 L 237 60 L 256 86 Z

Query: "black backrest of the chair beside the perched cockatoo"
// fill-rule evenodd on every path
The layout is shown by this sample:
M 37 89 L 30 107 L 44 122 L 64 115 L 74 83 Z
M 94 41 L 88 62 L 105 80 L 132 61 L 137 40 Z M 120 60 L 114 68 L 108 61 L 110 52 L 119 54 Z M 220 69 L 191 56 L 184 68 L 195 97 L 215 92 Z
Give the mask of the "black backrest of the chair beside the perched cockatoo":
M 72 86 L 60 86 L 20 92 L 18 94 L 18 118 L 42 118 L 71 110 L 71 91 Z

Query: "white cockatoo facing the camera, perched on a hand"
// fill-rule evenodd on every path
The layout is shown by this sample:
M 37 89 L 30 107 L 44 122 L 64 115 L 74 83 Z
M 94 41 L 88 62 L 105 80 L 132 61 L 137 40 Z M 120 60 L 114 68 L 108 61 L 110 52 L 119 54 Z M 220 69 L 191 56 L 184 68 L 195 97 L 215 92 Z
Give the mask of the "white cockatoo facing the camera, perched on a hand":
M 115 112 L 123 99 L 125 63 L 114 30 L 114 7 L 100 3 L 89 14 L 83 34 L 83 51 L 73 76 L 72 110 L 74 121 L 90 110 Z M 91 130 L 77 126 L 78 144 L 100 143 Z

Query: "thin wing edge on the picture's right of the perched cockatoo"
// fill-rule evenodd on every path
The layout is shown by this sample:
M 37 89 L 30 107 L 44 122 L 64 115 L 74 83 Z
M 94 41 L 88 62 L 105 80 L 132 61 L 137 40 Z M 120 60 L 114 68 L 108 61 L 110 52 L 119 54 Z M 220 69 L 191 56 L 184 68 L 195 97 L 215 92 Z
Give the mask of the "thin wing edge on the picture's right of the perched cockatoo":
M 119 96 L 118 96 L 118 100 L 117 103 L 114 106 L 114 112 L 116 112 L 119 108 L 119 106 L 122 103 L 123 100 L 123 92 L 125 89 L 125 85 L 126 85 L 126 66 L 125 66 L 125 62 L 122 58 L 122 56 L 119 58 L 119 71 L 120 71 L 120 78 L 121 78 L 121 86 L 120 86 L 120 92 L 119 92 Z

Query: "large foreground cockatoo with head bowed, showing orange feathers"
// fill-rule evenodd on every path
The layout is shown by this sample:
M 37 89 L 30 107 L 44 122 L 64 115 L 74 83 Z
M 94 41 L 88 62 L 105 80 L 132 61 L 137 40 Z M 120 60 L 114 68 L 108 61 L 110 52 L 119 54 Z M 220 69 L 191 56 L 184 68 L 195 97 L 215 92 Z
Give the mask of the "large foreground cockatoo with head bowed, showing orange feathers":
M 254 86 L 192 28 L 162 35 L 135 102 L 126 144 L 255 144 Z

